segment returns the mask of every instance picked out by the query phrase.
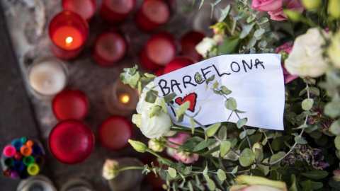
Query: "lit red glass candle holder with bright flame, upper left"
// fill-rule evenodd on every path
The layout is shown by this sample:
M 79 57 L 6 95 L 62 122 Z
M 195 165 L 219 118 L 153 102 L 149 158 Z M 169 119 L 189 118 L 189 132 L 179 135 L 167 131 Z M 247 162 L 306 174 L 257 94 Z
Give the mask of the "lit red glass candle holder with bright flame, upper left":
M 74 59 L 89 36 L 89 25 L 77 13 L 62 11 L 50 21 L 48 33 L 53 54 L 60 59 Z

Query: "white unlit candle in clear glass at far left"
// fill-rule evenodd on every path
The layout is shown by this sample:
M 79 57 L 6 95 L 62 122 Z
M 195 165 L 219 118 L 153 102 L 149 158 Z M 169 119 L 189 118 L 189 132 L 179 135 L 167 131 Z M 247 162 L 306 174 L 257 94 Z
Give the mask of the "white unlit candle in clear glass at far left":
M 47 99 L 67 85 L 68 71 L 64 63 L 47 57 L 38 59 L 28 68 L 27 78 L 33 96 Z

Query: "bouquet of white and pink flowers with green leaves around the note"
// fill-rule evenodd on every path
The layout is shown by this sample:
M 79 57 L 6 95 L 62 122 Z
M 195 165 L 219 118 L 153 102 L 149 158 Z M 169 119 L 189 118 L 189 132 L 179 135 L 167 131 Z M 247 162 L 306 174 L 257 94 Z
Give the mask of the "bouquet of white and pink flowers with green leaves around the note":
M 281 54 L 285 79 L 284 131 L 253 128 L 247 119 L 200 124 L 188 114 L 190 102 L 171 103 L 175 93 L 159 96 L 157 76 L 137 66 L 120 79 L 140 92 L 132 122 L 140 127 L 148 146 L 129 140 L 136 151 L 159 159 L 144 167 L 165 180 L 165 190 L 340 190 L 340 0 L 236 0 L 222 8 L 196 50 L 209 59 L 222 54 Z M 202 0 L 202 4 L 204 1 Z M 197 74 L 196 81 L 203 81 Z M 237 100 L 224 84 L 206 79 L 207 91 L 225 98 L 225 108 L 237 116 Z M 192 128 L 174 125 L 188 117 Z M 198 126 L 198 128 L 194 128 Z M 169 156 L 157 154 L 166 149 Z M 116 164 L 110 178 L 122 170 Z

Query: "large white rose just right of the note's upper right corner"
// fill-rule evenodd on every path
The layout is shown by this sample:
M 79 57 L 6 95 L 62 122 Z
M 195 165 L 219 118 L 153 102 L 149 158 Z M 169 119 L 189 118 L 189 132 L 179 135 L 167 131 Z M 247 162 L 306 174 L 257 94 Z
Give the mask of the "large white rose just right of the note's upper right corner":
M 324 33 L 326 36 L 327 33 Z M 292 52 L 285 59 L 285 69 L 291 75 L 301 77 L 318 77 L 326 72 L 327 62 L 324 61 L 322 47 L 326 45 L 319 29 L 310 28 L 307 33 L 295 39 Z

